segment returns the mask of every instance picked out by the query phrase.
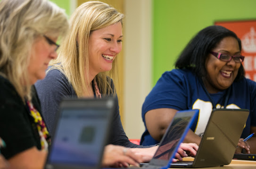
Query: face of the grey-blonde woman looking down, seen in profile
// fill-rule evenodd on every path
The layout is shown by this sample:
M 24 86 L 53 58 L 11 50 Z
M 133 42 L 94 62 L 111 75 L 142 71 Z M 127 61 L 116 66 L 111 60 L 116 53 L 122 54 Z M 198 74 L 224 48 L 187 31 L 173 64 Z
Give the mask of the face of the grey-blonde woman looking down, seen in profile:
M 57 38 L 49 37 L 56 42 Z M 45 71 L 51 59 L 57 57 L 56 46 L 49 44 L 46 38 L 39 37 L 32 45 L 30 61 L 28 65 L 28 75 L 30 84 L 37 80 L 45 78 Z

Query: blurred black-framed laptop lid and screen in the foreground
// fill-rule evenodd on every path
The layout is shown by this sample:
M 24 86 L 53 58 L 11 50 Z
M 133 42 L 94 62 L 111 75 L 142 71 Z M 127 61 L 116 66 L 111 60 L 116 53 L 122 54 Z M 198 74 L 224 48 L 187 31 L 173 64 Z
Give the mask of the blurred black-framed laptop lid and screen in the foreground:
M 64 99 L 45 169 L 99 169 L 116 99 Z

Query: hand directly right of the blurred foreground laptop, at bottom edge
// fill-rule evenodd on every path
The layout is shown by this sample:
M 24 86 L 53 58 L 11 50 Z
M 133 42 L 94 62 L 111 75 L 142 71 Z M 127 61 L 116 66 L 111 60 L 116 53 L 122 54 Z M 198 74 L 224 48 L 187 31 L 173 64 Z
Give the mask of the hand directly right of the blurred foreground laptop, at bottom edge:
M 136 155 L 129 148 L 120 145 L 107 145 L 104 149 L 102 167 L 139 166 L 142 156 Z

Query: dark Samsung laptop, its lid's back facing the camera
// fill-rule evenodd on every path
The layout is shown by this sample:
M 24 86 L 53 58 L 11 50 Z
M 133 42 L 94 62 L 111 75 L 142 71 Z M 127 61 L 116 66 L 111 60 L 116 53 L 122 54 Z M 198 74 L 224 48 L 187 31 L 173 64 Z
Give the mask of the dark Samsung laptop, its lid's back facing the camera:
M 230 164 L 248 118 L 247 109 L 214 109 L 194 161 L 177 161 L 172 168 L 200 168 Z

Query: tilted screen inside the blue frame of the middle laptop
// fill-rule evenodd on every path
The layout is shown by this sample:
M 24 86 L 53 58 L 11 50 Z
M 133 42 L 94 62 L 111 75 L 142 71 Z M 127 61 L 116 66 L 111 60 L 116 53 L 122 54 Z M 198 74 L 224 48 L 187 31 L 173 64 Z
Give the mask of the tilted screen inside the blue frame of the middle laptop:
M 160 143 L 154 159 L 169 160 L 177 144 L 179 143 L 184 130 L 186 129 L 191 117 L 175 117 L 168 131 L 165 133 L 164 139 Z

